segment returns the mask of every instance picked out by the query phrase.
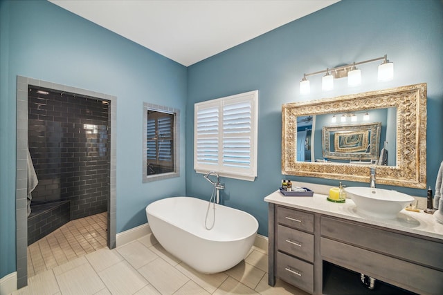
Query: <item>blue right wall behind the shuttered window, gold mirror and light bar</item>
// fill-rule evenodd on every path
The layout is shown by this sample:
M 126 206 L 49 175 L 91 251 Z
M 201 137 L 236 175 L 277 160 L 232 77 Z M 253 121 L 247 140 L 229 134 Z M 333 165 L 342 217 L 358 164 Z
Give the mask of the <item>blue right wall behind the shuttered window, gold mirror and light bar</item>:
M 281 106 L 395 86 L 428 83 L 428 185 L 443 160 L 443 3 L 440 0 L 343 0 L 277 28 L 188 68 L 186 159 L 193 158 L 195 102 L 236 93 L 259 91 L 258 177 L 255 182 L 223 179 L 225 204 L 252 213 L 267 235 L 267 204 L 263 198 L 278 188 Z M 298 94 L 303 73 L 350 64 L 387 54 L 395 64 L 392 82 L 377 82 L 378 63 L 361 65 L 361 86 L 348 88 L 336 80 L 334 91 L 321 92 L 321 75 L 311 77 L 311 94 Z M 336 180 L 285 177 L 336 185 Z M 347 185 L 356 183 L 345 182 Z M 366 184 L 365 184 L 366 185 Z M 383 186 L 380 186 L 383 187 Z M 386 186 L 387 187 L 387 186 Z M 425 190 L 392 187 L 426 196 Z M 186 168 L 186 192 L 208 199 L 211 187 L 192 165 Z

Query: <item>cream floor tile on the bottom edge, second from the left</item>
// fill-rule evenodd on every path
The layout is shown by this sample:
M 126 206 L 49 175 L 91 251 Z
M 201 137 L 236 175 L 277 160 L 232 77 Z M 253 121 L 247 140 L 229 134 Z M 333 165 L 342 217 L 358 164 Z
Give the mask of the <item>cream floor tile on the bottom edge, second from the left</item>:
M 55 276 L 63 295 L 94 294 L 105 288 L 89 263 Z

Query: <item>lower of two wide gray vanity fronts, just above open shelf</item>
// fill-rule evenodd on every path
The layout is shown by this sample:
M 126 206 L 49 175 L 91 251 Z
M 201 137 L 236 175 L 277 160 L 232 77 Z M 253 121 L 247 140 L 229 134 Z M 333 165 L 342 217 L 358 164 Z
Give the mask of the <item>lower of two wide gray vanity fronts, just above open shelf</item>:
M 341 265 L 354 272 L 367 274 L 418 294 L 442 294 L 443 272 L 436 269 L 327 238 L 320 239 L 320 251 L 323 260 Z M 439 258 L 435 257 L 435 259 Z

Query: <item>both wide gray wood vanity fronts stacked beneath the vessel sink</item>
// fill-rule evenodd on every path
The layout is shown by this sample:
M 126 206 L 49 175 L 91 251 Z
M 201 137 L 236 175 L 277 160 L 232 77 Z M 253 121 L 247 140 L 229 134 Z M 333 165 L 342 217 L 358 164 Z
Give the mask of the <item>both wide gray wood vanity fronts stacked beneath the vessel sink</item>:
M 443 294 L 443 244 L 361 222 L 321 217 L 323 260 L 418 294 Z

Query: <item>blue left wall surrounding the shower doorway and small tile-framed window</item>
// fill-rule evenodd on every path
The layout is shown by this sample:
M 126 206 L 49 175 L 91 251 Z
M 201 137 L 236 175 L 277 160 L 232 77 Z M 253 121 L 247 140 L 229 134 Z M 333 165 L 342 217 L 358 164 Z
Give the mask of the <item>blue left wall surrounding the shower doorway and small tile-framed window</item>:
M 17 75 L 115 95 L 116 231 L 146 222 L 145 206 L 183 195 L 187 69 L 48 1 L 0 4 L 0 278 L 15 272 Z M 181 111 L 181 177 L 142 183 L 143 102 Z

